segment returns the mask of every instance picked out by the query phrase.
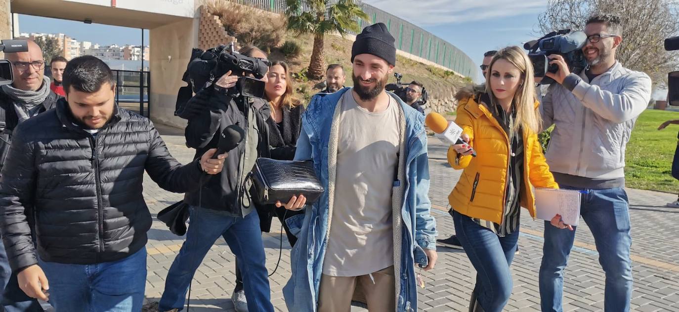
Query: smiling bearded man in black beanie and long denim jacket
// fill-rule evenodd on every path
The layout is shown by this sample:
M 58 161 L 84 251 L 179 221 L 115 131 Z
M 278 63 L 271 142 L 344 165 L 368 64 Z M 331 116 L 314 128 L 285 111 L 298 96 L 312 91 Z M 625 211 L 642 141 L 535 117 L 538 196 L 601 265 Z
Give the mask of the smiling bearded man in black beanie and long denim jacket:
M 415 263 L 429 270 L 437 259 L 424 115 L 384 90 L 394 37 L 368 26 L 351 54 L 354 87 L 317 94 L 302 117 L 295 160 L 313 161 L 328 191 L 287 221 L 299 239 L 283 290 L 289 311 L 349 311 L 352 300 L 416 310 Z M 278 206 L 305 203 L 300 195 Z

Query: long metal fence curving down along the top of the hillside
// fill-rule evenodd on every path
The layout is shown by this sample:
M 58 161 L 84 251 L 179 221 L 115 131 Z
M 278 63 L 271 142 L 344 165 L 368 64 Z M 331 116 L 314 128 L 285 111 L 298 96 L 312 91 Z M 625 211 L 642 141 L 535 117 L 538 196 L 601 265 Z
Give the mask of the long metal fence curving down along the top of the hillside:
M 278 14 L 284 14 L 285 8 L 287 7 L 285 0 L 230 1 Z M 337 3 L 337 1 L 338 0 L 329 0 L 328 3 L 329 5 L 333 5 Z M 383 22 L 389 28 L 389 32 L 394 35 L 397 49 L 445 66 L 449 69 L 452 69 L 453 71 L 456 71 L 456 73 L 460 73 L 460 75 L 471 77 L 471 79 L 476 79 L 476 65 L 471 60 L 471 58 L 469 58 L 469 56 L 464 54 L 464 52 L 454 45 L 439 37 L 436 37 L 432 33 L 425 31 L 424 29 L 412 24 L 411 22 L 408 22 L 407 20 L 403 20 L 403 18 L 399 18 L 384 12 L 377 7 L 373 7 L 372 5 L 362 3 L 360 1 L 359 5 L 361 5 L 361 8 L 363 8 L 363 12 L 368 14 L 370 17 L 370 22 L 359 20 L 359 28 L 363 29 L 363 27 L 368 26 L 369 24 Z M 306 11 L 310 8 L 305 2 L 302 3 L 302 9 Z

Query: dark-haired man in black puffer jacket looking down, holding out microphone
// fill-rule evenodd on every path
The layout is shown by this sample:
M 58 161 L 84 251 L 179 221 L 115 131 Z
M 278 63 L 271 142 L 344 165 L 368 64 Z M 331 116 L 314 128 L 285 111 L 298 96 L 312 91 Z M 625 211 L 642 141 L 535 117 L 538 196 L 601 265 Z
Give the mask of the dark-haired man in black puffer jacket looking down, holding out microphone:
M 151 228 L 144 170 L 184 192 L 221 172 L 226 155 L 210 159 L 213 149 L 181 165 L 149 119 L 115 106 L 113 74 L 94 56 L 71 60 L 63 84 L 66 100 L 18 125 L 0 178 L 10 266 L 29 296 L 48 300 L 50 290 L 56 311 L 140 311 Z

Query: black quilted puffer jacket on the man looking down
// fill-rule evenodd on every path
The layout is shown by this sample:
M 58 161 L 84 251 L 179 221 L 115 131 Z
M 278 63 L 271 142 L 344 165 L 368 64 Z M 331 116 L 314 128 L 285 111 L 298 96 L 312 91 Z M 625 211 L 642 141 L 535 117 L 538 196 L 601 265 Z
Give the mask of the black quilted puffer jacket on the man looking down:
M 20 123 L 0 178 L 0 229 L 13 270 L 50 262 L 94 264 L 143 248 L 151 214 L 143 173 L 168 191 L 195 188 L 197 161 L 181 165 L 153 123 L 117 109 L 96 136 L 74 124 L 65 100 Z

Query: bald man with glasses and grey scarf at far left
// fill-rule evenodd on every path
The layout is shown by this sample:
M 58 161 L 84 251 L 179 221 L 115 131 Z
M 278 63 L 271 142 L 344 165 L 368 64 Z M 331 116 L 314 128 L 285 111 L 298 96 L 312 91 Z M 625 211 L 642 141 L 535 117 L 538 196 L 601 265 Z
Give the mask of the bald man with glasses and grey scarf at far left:
M 0 89 L 0 168 L 10 150 L 12 133 L 19 123 L 52 109 L 60 98 L 50 91 L 50 79 L 44 77 L 43 53 L 32 40 L 28 52 L 5 53 L 12 62 L 14 81 Z M 0 279 L 3 294 L 0 305 L 7 312 L 43 311 L 35 298 L 19 288 L 16 273 L 12 273 L 2 241 L 0 241 Z M 0 309 L 1 311 L 2 309 Z

